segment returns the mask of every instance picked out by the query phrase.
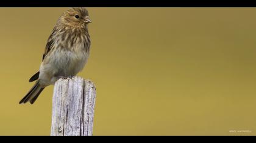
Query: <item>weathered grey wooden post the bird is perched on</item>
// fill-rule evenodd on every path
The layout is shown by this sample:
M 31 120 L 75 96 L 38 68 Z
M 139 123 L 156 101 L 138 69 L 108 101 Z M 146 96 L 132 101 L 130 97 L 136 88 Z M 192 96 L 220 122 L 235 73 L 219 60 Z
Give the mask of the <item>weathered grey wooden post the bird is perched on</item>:
M 59 79 L 52 99 L 51 136 L 92 136 L 96 88 L 80 77 Z

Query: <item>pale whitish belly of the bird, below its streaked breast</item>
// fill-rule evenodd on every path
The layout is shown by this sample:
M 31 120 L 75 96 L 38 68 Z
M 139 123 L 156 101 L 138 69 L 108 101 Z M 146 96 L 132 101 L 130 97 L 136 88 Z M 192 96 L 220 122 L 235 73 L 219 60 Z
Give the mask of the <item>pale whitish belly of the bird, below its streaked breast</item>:
M 52 53 L 48 57 L 48 62 L 43 62 L 40 66 L 39 79 L 41 84 L 50 85 L 59 78 L 76 76 L 84 68 L 88 55 L 85 52 L 75 53 L 68 50 Z

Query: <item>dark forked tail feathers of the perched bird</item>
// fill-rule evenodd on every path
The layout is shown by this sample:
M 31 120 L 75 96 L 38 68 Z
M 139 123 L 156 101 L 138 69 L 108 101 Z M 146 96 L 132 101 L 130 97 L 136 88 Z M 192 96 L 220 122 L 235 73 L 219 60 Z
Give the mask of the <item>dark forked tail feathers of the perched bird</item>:
M 20 104 L 25 104 L 27 101 L 30 104 L 34 104 L 35 100 L 37 100 L 38 96 L 40 95 L 41 91 L 43 91 L 44 87 L 42 87 L 39 82 L 37 81 L 35 85 L 29 90 L 26 96 L 21 99 Z

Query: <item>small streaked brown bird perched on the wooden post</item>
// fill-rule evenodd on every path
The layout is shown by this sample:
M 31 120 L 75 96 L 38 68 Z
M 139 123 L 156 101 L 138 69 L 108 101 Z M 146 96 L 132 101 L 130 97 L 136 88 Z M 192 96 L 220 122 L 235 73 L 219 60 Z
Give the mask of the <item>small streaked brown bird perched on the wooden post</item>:
M 90 53 L 90 35 L 86 8 L 70 8 L 60 16 L 48 38 L 40 69 L 29 82 L 35 82 L 20 104 L 34 104 L 41 91 L 59 78 L 76 76 L 84 68 Z

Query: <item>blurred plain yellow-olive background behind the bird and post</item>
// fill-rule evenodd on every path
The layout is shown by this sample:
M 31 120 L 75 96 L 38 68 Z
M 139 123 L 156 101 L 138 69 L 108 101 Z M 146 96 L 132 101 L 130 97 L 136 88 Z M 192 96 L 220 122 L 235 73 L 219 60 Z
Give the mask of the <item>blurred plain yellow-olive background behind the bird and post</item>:
M 0 8 L 0 135 L 49 135 L 53 86 L 18 102 L 65 10 Z M 88 10 L 94 135 L 256 135 L 256 8 Z

